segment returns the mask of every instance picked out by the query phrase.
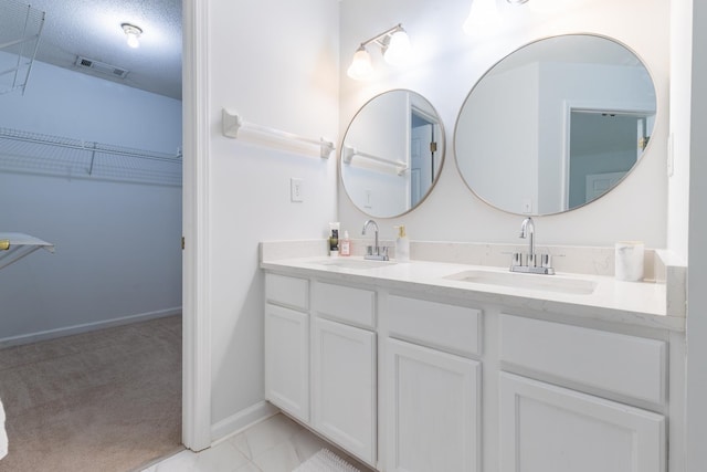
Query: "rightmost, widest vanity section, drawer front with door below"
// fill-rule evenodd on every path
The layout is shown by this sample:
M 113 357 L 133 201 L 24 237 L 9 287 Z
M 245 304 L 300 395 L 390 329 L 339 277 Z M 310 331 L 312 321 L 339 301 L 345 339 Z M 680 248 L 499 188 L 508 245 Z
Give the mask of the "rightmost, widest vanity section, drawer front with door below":
M 665 472 L 665 342 L 500 315 L 500 472 Z

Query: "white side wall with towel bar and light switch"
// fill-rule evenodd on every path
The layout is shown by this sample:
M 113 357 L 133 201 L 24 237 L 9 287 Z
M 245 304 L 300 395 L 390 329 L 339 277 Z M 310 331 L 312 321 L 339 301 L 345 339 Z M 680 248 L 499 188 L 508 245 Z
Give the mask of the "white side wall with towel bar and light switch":
M 325 238 L 336 218 L 337 162 L 221 135 L 221 109 L 338 143 L 338 1 L 209 6 L 211 424 L 232 430 L 263 400 L 264 240 Z M 196 158 L 207 158 L 197 156 Z M 289 178 L 304 202 L 289 201 Z

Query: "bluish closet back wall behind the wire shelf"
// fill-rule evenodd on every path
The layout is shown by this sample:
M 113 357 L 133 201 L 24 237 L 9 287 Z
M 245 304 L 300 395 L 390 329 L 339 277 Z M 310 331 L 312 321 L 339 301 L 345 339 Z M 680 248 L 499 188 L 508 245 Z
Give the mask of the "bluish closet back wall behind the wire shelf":
M 23 96 L 0 95 L 0 127 L 168 154 L 181 146 L 179 101 L 43 63 Z M 0 271 L 0 339 L 179 313 L 181 188 L 3 172 L 0 201 L 0 232 L 56 245 Z

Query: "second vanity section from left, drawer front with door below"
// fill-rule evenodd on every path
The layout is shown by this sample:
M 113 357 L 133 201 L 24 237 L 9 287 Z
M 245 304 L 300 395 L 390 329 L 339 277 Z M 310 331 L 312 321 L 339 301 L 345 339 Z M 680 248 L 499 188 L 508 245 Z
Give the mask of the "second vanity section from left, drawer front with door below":
M 312 426 L 374 464 L 376 293 L 315 282 L 312 307 Z

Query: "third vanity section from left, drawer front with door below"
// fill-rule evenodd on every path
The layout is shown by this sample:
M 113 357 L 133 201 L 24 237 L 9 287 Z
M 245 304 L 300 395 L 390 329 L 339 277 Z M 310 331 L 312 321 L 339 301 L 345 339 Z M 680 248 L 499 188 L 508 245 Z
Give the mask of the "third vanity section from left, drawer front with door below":
M 386 471 L 481 471 L 481 363 L 463 356 L 481 312 L 391 295 L 384 315 Z

